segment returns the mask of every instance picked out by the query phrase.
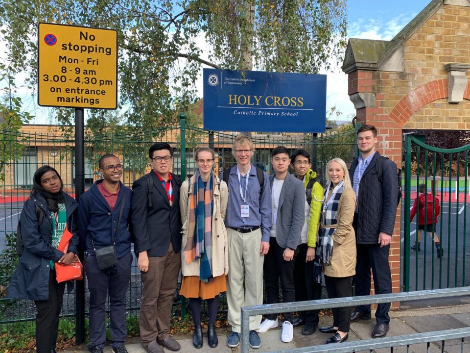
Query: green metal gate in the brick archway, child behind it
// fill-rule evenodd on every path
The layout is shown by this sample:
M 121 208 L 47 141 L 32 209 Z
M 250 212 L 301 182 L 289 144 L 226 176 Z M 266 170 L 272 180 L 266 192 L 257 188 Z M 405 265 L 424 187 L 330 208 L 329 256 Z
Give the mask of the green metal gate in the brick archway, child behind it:
M 451 288 L 470 284 L 466 266 L 468 249 L 469 150 L 470 145 L 444 150 L 426 145 L 412 135 L 405 138 L 405 199 L 402 219 L 403 287 L 405 291 Z M 410 220 L 412 202 L 419 198 L 419 185 L 429 195 L 430 219 L 440 215 L 436 227 L 421 233 L 418 215 Z M 422 222 L 423 223 L 423 222 Z M 425 222 L 427 223 L 427 221 Z M 437 235 L 440 247 L 435 246 Z M 441 251 L 442 249 L 442 251 Z

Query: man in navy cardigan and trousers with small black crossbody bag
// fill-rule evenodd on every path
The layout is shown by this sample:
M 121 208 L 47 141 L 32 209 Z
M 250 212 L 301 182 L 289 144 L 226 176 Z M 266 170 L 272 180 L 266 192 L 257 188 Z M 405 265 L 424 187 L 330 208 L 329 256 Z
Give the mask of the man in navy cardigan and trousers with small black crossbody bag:
M 113 353 L 127 353 L 126 292 L 131 277 L 132 253 L 129 233 L 132 191 L 120 182 L 123 166 L 114 154 L 98 161 L 103 179 L 97 180 L 78 203 L 78 235 L 87 252 L 85 272 L 90 290 L 91 353 L 103 353 L 106 343 L 106 298 L 109 296 Z M 114 241 L 116 239 L 116 241 Z M 100 269 L 94 250 L 113 245 L 118 263 Z

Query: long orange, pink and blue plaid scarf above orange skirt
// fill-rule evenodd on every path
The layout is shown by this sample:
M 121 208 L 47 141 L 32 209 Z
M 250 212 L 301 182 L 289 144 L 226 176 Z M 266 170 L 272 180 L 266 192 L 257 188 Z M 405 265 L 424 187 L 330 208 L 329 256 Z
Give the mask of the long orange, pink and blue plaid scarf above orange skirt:
M 199 170 L 188 180 L 193 183 L 188 207 L 188 242 L 185 248 L 186 263 L 200 259 L 199 279 L 208 282 L 212 278 L 212 211 L 214 209 L 214 178 L 211 173 L 206 186 Z

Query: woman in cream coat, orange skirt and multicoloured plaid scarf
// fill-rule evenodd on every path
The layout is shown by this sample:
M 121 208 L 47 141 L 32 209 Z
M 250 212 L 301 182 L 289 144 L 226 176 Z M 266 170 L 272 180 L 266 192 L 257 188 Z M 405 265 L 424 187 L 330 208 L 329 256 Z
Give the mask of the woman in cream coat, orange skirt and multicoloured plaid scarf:
M 207 300 L 209 346 L 218 345 L 215 315 L 219 294 L 227 290 L 225 276 L 229 272 L 227 231 L 224 220 L 228 188 L 212 171 L 214 151 L 200 148 L 195 153 L 198 170 L 185 180 L 180 189 L 181 222 L 183 224 L 182 273 L 180 294 L 189 299 L 194 320 L 192 344 L 203 346 L 201 327 L 202 300 Z

